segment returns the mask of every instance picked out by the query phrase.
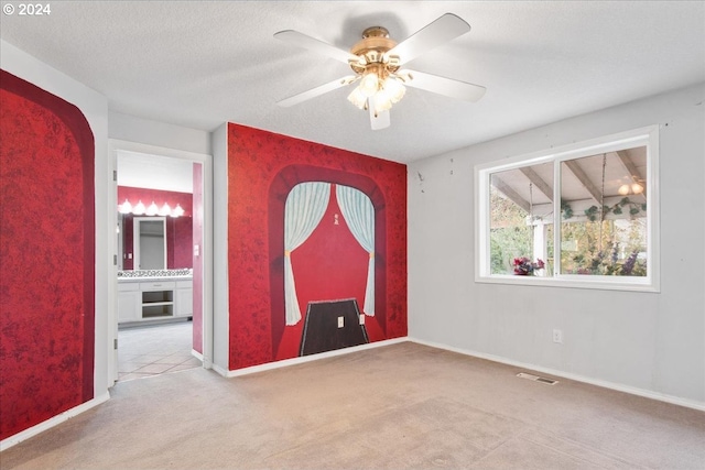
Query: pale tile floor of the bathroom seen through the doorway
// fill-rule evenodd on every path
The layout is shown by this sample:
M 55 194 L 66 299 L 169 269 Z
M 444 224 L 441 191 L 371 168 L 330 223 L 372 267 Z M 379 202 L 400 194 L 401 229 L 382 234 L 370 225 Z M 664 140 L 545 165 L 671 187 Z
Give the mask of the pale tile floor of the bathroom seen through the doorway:
M 199 368 L 192 353 L 193 323 L 150 325 L 118 330 L 118 381 L 124 382 Z

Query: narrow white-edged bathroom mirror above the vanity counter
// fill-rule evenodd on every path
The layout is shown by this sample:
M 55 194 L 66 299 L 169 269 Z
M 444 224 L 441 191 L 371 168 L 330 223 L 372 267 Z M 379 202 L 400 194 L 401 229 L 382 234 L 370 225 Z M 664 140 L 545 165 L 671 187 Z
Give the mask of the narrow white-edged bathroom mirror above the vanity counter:
M 134 227 L 134 269 L 166 269 L 166 218 L 135 217 Z

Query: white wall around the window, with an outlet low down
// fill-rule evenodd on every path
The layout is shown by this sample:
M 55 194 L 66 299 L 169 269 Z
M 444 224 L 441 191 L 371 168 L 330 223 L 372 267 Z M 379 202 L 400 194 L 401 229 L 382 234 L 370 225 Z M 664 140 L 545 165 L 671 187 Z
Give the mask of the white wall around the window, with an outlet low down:
M 705 406 L 704 101 L 698 85 L 409 165 L 409 336 Z M 660 125 L 660 293 L 475 283 L 476 164 L 649 124 Z

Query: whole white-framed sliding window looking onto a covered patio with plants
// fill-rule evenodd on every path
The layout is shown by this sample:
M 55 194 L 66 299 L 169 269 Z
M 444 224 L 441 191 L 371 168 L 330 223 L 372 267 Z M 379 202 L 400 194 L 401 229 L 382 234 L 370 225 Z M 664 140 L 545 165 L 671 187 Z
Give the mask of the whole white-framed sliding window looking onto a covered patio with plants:
M 658 149 L 651 127 L 477 166 L 476 281 L 658 291 Z

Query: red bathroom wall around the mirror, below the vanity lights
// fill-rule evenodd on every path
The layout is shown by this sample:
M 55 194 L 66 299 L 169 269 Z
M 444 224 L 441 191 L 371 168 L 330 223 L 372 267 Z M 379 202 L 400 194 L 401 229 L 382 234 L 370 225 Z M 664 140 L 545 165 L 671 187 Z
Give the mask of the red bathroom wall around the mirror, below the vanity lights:
M 191 193 L 177 193 L 159 189 L 134 188 L 129 186 L 118 186 L 118 204 L 128 199 L 132 206 L 142 201 L 149 206 L 154 201 L 159 207 L 169 203 L 173 209 L 177 204 L 184 209 L 181 217 L 166 218 L 166 267 L 178 270 L 182 267 L 193 267 L 193 195 Z M 123 259 L 122 269 L 132 270 L 133 260 L 124 258 L 127 253 L 133 253 L 133 225 L 132 216 L 126 215 L 122 227 L 123 237 Z

